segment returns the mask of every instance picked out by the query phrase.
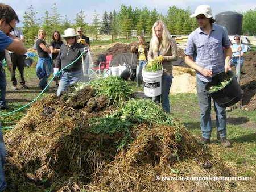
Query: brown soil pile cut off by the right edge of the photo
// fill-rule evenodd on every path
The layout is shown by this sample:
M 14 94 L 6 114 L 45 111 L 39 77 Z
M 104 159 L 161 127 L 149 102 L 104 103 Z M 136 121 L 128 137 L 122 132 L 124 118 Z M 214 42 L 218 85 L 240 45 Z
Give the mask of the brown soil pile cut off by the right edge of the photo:
M 256 51 L 249 51 L 245 55 L 243 69 L 246 74 L 241 74 L 240 85 L 243 94 L 243 108 L 245 110 L 256 109 Z

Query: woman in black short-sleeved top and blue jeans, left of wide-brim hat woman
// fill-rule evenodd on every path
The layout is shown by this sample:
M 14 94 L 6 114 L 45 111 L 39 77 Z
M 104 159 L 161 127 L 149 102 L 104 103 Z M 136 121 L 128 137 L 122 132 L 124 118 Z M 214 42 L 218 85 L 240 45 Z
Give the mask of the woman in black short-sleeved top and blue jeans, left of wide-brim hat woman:
M 36 75 L 39 78 L 38 87 L 42 90 L 47 86 L 47 80 L 52 72 L 52 60 L 49 56 L 51 50 L 46 44 L 46 31 L 38 31 L 38 40 L 36 40 L 36 51 L 38 52 L 38 63 L 36 64 Z

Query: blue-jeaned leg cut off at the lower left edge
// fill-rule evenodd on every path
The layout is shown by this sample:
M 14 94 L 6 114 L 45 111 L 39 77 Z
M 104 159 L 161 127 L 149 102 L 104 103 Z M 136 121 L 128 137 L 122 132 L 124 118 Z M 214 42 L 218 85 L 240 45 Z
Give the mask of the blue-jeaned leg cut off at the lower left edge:
M 3 166 L 5 165 L 5 158 L 6 158 L 6 150 L 5 150 L 5 143 L 3 143 L 3 135 L 0 123 L 0 191 L 5 190 L 6 182 L 5 182 L 5 170 Z

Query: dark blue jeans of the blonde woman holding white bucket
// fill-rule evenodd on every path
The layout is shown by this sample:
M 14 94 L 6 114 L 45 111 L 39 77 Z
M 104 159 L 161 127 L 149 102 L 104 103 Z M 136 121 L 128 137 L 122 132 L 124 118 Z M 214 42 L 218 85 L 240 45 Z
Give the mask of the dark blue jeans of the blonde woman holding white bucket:
M 169 102 L 169 93 L 172 85 L 172 75 L 163 74 L 162 76 L 162 94 L 156 97 L 152 97 L 152 101 L 156 103 L 160 103 L 163 107 L 163 110 L 170 113 L 170 102 Z

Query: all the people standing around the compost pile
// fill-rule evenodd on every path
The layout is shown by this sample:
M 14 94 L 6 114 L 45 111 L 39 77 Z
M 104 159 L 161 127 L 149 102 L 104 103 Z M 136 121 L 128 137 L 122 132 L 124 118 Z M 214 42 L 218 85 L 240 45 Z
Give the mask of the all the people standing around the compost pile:
M 5 14 L 2 14 L 5 13 Z M 185 48 L 185 63 L 196 70 L 197 96 L 200 106 L 200 127 L 201 141 L 205 144 L 210 142 L 212 124 L 211 124 L 211 98 L 209 92 L 205 89 L 207 82 L 212 81 L 214 74 L 228 72 L 230 70 L 230 59 L 232 57 L 231 43 L 224 27 L 214 24 L 212 10 L 208 5 L 200 5 L 191 15 L 196 18 L 198 28 L 188 36 L 187 47 Z M 14 31 L 16 22 L 19 22 L 15 11 L 8 5 L 0 3 L 0 61 L 5 57 L 4 50 L 11 52 L 11 59 L 15 61 L 20 55 L 26 53 L 26 48 L 22 42 L 21 36 L 11 34 Z M 68 64 L 75 61 L 88 47 L 89 38 L 82 35 L 82 29 L 79 27 L 75 31 L 68 28 L 64 35 L 60 36 L 58 31 L 54 31 L 52 42 L 48 45 L 45 41 L 46 31 L 38 31 L 38 40 L 36 40 L 36 51 L 38 52 L 38 64 L 36 73 L 40 79 L 40 89 L 45 89 L 49 75 L 54 71 L 55 82 L 58 86 L 57 95 L 67 90 L 68 86 L 79 81 L 82 77 L 81 58 L 73 65 L 65 68 Z M 63 41 L 61 40 L 63 37 Z M 239 40 L 235 37 L 235 40 Z M 224 51 L 225 48 L 225 51 Z M 235 49 L 235 48 L 234 48 Z M 237 47 L 233 52 L 240 52 Z M 52 55 L 52 58 L 50 57 Z M 162 76 L 162 94 L 153 98 L 155 102 L 161 102 L 163 110 L 170 112 L 169 93 L 172 84 L 172 61 L 177 60 L 177 45 L 167 30 L 166 24 L 161 20 L 154 23 L 152 27 L 152 38 L 147 52 L 143 36 L 139 37 L 137 71 L 137 84 L 141 84 L 141 72 L 147 60 L 163 56 L 163 76 Z M 240 55 L 241 56 L 241 55 Z M 19 66 L 17 65 L 18 69 Z M 59 70 L 65 68 L 61 74 Z M 6 87 L 5 75 L 0 65 L 0 88 Z M 22 70 L 20 70 L 21 73 Z M 59 76 L 60 75 L 60 76 Z M 58 77 L 59 76 L 59 77 Z M 14 72 L 15 77 L 15 72 Z M 16 80 L 13 78 L 13 85 L 16 86 Z M 3 85 L 5 84 L 5 85 Z M 26 89 L 24 79 L 21 85 Z M 0 103 L 1 105 L 1 103 Z M 226 139 L 226 110 L 214 102 L 216 112 L 217 139 L 223 147 L 230 147 L 231 143 Z M 0 130 L 0 191 L 6 187 L 3 164 L 5 162 L 5 146 Z

